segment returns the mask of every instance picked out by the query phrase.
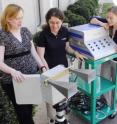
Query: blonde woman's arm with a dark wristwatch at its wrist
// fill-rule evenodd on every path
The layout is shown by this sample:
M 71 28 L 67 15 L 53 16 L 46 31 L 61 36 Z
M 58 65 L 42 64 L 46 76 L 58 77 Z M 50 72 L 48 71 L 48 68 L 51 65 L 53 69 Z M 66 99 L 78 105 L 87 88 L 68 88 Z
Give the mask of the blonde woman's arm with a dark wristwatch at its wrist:
M 45 67 L 45 68 L 43 68 L 43 71 L 46 71 L 46 66 L 44 65 L 41 57 L 37 54 L 34 43 L 32 41 L 31 41 L 31 54 L 34 57 L 34 59 L 36 60 L 39 68 Z

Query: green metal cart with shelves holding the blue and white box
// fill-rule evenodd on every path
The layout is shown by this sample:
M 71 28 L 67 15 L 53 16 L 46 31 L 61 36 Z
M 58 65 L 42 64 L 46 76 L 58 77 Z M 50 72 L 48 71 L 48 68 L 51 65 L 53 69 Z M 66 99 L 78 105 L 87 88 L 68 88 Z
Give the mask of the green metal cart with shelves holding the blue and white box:
M 109 60 L 112 60 L 113 58 L 116 58 L 116 57 L 117 57 L 117 54 L 113 54 L 96 61 L 87 59 L 85 60 L 85 68 L 88 69 L 89 66 L 91 66 L 92 69 L 96 70 L 98 68 L 98 65 L 104 62 L 107 62 Z M 117 67 L 116 67 L 116 72 L 117 72 Z M 73 111 L 76 114 L 82 116 L 87 121 L 89 121 L 90 124 L 96 124 L 115 112 L 117 76 L 114 82 L 107 80 L 104 77 L 96 76 L 96 79 L 92 81 L 90 84 L 87 82 L 84 82 L 84 83 L 78 82 L 77 86 L 78 86 L 78 90 L 82 91 L 83 93 L 85 93 L 91 98 L 91 105 L 90 105 L 91 114 L 88 114 L 88 115 L 84 114 L 81 111 L 78 111 L 77 108 L 73 109 Z M 102 108 L 101 111 L 96 111 L 96 98 L 109 91 L 112 91 L 114 93 L 112 105 Z

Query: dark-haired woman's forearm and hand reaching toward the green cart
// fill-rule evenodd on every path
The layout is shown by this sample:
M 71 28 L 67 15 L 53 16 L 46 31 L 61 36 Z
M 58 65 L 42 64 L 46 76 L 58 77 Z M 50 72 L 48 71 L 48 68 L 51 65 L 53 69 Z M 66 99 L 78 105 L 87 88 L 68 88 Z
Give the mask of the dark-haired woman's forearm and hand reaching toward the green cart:
M 66 51 L 67 51 L 68 53 L 75 55 L 75 57 L 76 57 L 77 59 L 83 60 L 84 58 L 86 58 L 86 57 L 84 57 L 83 55 L 81 55 L 78 51 L 73 50 L 73 49 L 70 47 L 69 42 L 66 42 L 66 47 L 65 47 L 65 49 L 66 49 Z

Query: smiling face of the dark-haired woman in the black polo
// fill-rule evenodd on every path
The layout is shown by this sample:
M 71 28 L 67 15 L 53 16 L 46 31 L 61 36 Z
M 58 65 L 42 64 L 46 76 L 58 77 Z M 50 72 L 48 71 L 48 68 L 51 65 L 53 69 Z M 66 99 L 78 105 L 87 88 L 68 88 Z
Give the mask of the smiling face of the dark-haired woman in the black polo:
M 60 20 L 57 17 L 52 16 L 49 19 L 48 23 L 49 23 L 49 27 L 50 27 L 51 32 L 52 33 L 58 33 L 59 29 L 61 28 L 61 25 L 62 25 L 63 21 Z

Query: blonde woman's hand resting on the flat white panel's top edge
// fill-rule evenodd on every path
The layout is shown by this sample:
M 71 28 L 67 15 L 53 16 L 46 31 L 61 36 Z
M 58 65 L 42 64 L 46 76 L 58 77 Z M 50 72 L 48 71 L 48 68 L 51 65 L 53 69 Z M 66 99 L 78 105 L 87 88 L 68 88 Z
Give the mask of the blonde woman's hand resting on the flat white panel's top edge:
M 17 82 L 22 82 L 23 80 L 25 80 L 23 73 L 14 69 L 11 71 L 11 76 Z

